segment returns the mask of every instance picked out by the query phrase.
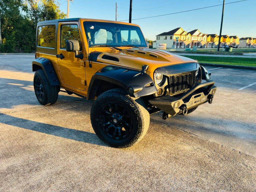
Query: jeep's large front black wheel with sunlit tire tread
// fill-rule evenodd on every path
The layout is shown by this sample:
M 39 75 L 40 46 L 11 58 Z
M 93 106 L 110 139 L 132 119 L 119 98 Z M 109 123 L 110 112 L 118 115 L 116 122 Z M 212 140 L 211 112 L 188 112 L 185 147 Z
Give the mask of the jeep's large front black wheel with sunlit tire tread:
M 102 93 L 91 109 L 93 130 L 112 147 L 134 145 L 148 131 L 150 118 L 144 104 L 142 99 L 135 101 L 116 89 Z

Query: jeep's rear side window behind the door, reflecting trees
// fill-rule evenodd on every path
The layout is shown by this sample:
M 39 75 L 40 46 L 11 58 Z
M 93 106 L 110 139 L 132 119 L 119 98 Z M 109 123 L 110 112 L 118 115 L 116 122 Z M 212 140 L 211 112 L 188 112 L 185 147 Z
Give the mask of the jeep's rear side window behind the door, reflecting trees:
M 55 48 L 55 25 L 37 28 L 37 46 Z

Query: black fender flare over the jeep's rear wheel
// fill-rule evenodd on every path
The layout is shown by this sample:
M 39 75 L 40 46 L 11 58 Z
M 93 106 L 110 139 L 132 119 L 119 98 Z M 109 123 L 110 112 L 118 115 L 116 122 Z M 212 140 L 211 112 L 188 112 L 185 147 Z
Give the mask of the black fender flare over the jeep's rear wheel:
M 44 74 L 50 85 L 60 85 L 60 81 L 55 73 L 52 62 L 50 60 L 43 57 L 38 57 L 32 61 L 32 71 L 36 71 L 37 66 L 41 67 L 44 70 Z

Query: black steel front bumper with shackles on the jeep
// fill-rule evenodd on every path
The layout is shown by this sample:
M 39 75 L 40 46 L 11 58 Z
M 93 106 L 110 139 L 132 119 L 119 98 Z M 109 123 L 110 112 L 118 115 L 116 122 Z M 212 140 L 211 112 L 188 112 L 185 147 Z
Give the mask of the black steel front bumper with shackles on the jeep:
M 214 81 L 207 81 L 196 84 L 196 86 L 177 97 L 165 95 L 148 101 L 151 105 L 169 114 L 169 116 L 175 116 L 181 113 L 186 115 L 188 109 L 206 102 L 212 103 L 213 96 L 217 90 L 214 83 Z

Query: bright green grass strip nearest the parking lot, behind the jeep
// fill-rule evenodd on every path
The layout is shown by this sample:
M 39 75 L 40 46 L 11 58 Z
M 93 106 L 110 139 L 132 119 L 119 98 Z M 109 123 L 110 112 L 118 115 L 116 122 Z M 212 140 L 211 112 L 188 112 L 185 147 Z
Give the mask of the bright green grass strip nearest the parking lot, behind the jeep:
M 226 65 L 244 65 L 256 67 L 256 58 L 239 58 L 239 57 L 210 57 L 210 56 L 190 56 L 191 59 L 198 60 L 199 63 L 216 63 Z

